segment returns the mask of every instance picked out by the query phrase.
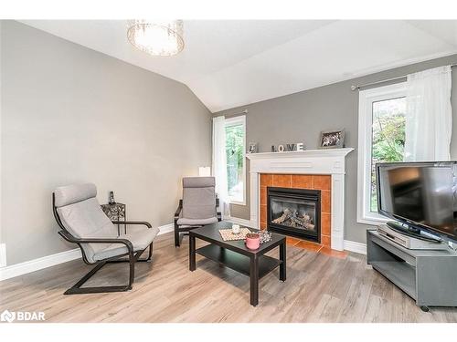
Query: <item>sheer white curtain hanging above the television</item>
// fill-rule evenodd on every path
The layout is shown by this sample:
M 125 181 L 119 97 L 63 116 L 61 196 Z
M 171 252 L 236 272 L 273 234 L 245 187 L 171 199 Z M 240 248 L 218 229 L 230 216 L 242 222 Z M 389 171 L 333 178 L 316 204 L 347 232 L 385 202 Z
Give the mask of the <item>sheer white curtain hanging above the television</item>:
M 405 161 L 451 159 L 451 66 L 408 75 Z

